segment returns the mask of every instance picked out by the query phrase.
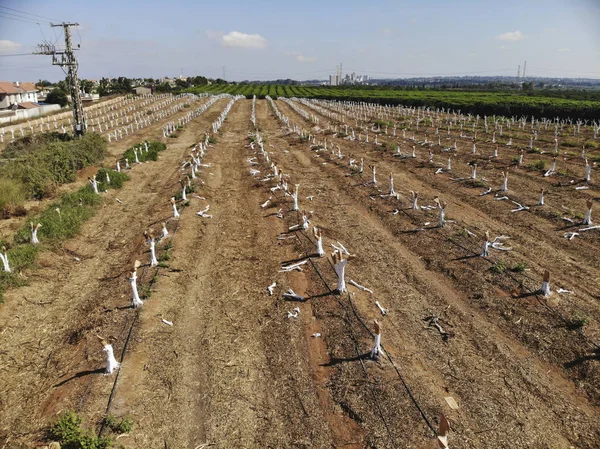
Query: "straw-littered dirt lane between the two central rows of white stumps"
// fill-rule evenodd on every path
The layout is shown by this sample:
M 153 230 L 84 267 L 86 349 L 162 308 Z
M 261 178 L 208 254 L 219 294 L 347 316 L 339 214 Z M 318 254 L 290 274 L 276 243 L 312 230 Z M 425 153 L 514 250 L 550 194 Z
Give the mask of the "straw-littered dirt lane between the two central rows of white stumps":
M 265 216 L 248 175 L 249 108 L 248 101 L 233 107 L 205 158 L 212 166 L 200 175 L 206 185 L 199 194 L 214 218 L 185 211 L 170 262 L 182 271 L 161 278 L 153 295 L 156 315 L 174 326 L 165 330 L 154 318 L 142 323 L 143 362 L 127 366 L 121 383 L 135 378 L 138 387 L 117 391 L 123 411 L 163 412 L 140 419 L 132 447 L 331 446 L 313 386 L 307 323 L 288 321 L 266 290 L 281 282 L 285 248 L 277 243 L 281 222 Z M 166 360 L 148 357 L 157 347 Z

